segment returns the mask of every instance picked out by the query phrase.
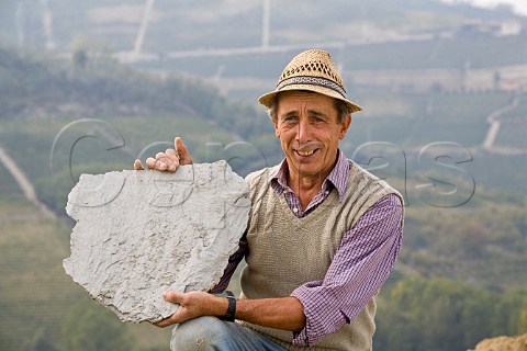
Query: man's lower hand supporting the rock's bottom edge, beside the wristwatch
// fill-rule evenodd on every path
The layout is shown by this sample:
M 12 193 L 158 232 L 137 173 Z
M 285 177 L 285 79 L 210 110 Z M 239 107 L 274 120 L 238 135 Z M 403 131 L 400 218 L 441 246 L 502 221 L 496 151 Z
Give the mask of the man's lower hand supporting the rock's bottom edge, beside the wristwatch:
M 168 318 L 154 325 L 159 328 L 200 316 L 224 316 L 228 308 L 226 297 L 214 296 L 203 292 L 178 293 L 169 291 L 162 293 L 162 298 L 169 303 L 179 304 L 178 310 Z

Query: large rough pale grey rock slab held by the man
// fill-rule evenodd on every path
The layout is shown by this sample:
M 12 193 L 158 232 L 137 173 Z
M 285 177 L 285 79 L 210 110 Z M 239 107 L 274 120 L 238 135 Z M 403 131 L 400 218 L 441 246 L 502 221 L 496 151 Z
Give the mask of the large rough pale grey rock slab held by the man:
M 218 282 L 249 208 L 245 180 L 225 161 L 82 174 L 66 206 L 77 224 L 63 265 L 121 320 L 157 321 L 177 310 L 164 291 Z

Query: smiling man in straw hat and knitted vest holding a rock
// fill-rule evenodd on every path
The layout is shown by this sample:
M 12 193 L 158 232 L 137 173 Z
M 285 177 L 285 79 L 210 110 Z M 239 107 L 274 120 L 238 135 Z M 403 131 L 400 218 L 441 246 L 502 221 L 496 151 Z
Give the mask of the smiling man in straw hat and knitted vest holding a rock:
M 299 54 L 259 101 L 285 159 L 246 179 L 247 231 L 213 290 L 224 290 L 245 258 L 242 296 L 166 292 L 180 307 L 157 326 L 179 324 L 172 350 L 371 350 L 374 296 L 401 248 L 402 197 L 339 150 L 361 107 L 347 99 L 328 53 Z M 175 145 L 147 167 L 192 163 L 182 140 Z

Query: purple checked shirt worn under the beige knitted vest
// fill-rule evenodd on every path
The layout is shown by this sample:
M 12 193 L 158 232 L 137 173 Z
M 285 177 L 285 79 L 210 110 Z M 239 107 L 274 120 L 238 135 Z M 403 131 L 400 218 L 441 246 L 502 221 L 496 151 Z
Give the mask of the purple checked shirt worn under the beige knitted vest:
M 271 180 L 271 188 L 278 195 L 283 195 L 291 211 L 302 218 L 324 202 L 333 190 L 339 197 L 344 195 L 350 167 L 351 161 L 339 151 L 335 168 L 305 210 L 287 184 L 285 161 Z M 393 194 L 382 197 L 344 234 L 324 280 L 307 282 L 293 291 L 291 296 L 302 303 L 306 317 L 305 328 L 293 333 L 294 344 L 313 346 L 357 317 L 395 264 L 403 238 L 401 200 Z M 248 250 L 244 236 L 238 251 L 229 259 L 222 281 L 212 293 L 226 288 Z

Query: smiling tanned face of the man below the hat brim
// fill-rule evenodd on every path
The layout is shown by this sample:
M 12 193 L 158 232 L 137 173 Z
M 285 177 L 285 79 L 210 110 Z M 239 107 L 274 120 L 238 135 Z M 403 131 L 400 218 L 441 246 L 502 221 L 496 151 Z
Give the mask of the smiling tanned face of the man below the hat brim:
M 289 176 L 324 180 L 335 165 L 338 141 L 345 137 L 351 116 L 338 123 L 335 100 L 318 93 L 288 91 L 278 99 L 274 129 Z

